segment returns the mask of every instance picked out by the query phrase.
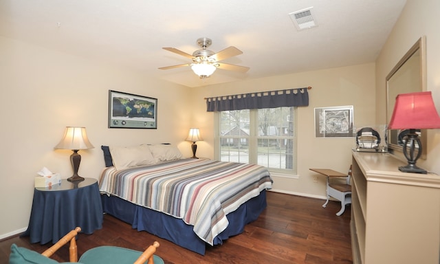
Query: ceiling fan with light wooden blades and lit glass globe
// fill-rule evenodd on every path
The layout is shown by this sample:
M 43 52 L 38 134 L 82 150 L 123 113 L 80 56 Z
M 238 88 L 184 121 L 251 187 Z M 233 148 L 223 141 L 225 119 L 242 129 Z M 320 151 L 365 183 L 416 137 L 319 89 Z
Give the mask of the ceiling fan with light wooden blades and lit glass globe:
M 175 47 L 162 47 L 164 50 L 168 50 L 168 52 L 174 52 L 175 54 L 190 58 L 192 60 L 192 63 L 160 67 L 159 69 L 174 69 L 190 66 L 192 71 L 195 72 L 195 74 L 197 74 L 201 79 L 205 79 L 211 76 L 211 74 L 213 74 L 217 68 L 228 69 L 231 71 L 238 71 L 243 73 L 248 72 L 249 67 L 228 63 L 219 63 L 219 61 L 223 61 L 226 58 L 243 54 L 241 50 L 237 49 L 234 46 L 230 46 L 225 48 L 224 50 L 221 50 L 220 52 L 215 53 L 212 52 L 212 50 L 206 50 L 206 48 L 209 47 L 211 44 L 211 39 L 197 39 L 197 45 L 201 47 L 201 50 L 196 50 L 192 53 L 192 55 L 186 52 L 182 52 L 181 50 L 177 50 Z

